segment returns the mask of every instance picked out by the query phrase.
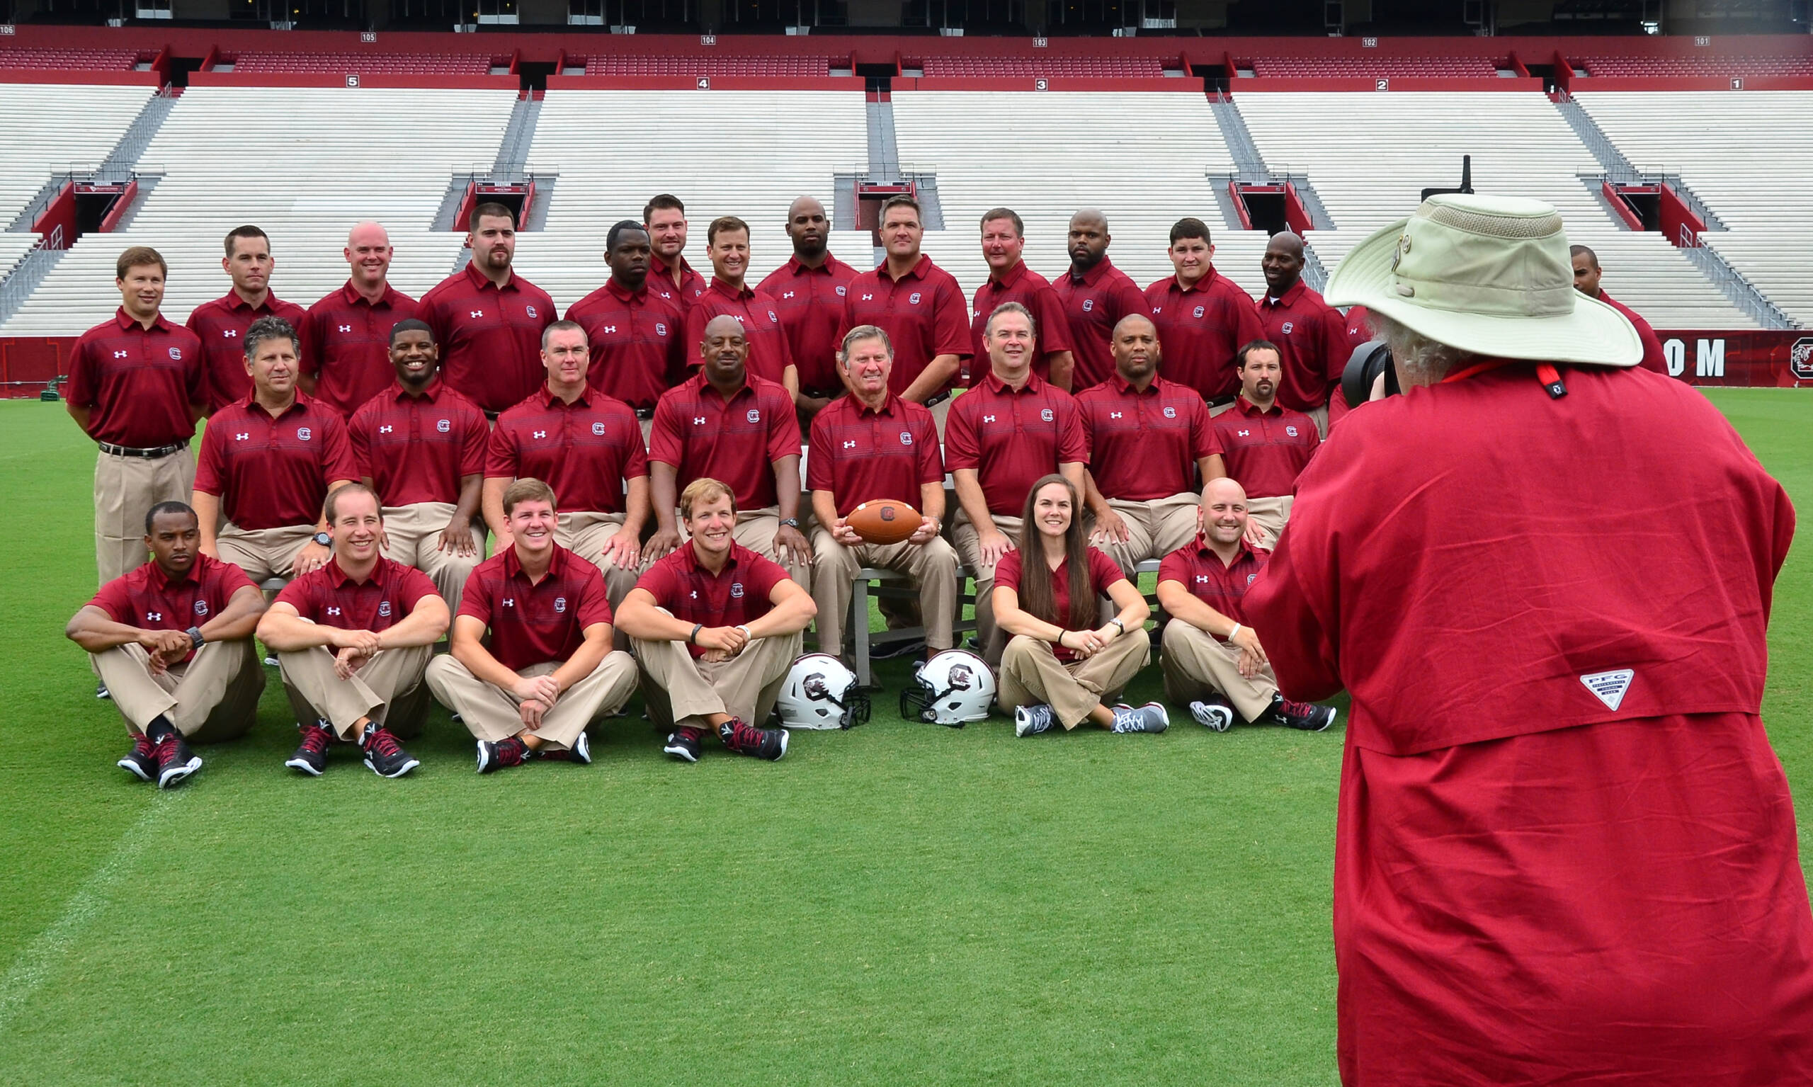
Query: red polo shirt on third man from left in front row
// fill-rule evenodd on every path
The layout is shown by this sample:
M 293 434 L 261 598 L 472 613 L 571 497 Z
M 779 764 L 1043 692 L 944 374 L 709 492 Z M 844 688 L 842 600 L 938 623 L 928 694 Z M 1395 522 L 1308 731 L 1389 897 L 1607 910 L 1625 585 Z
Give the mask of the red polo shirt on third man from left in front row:
M 511 672 L 549 661 L 566 663 L 586 641 L 586 627 L 611 621 L 604 574 L 558 544 L 548 572 L 529 582 L 506 547 L 473 567 L 461 591 L 459 614 L 491 629 L 491 656 Z

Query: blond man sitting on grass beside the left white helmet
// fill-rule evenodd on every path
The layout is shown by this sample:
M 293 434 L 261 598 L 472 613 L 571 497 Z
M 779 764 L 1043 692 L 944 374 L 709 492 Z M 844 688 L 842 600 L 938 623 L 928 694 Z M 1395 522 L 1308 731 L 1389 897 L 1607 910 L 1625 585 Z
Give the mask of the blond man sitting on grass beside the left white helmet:
M 761 728 L 818 611 L 787 571 L 732 536 L 736 496 L 711 476 L 680 493 L 691 536 L 624 598 L 618 621 L 642 667 L 649 717 L 669 755 L 696 763 L 707 730 L 740 755 L 780 759 L 785 728 Z

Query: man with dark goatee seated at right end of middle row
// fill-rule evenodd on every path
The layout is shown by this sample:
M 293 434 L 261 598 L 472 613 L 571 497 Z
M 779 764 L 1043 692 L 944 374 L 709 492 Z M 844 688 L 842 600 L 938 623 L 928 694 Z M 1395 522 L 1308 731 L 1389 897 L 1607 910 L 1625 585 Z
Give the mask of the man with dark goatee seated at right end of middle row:
M 1296 473 L 1322 444 L 1314 420 L 1276 402 L 1282 370 L 1276 344 L 1253 341 L 1240 348 L 1240 397 L 1215 417 L 1222 462 L 1247 495 L 1247 540 L 1265 551 L 1278 545 L 1291 518 Z

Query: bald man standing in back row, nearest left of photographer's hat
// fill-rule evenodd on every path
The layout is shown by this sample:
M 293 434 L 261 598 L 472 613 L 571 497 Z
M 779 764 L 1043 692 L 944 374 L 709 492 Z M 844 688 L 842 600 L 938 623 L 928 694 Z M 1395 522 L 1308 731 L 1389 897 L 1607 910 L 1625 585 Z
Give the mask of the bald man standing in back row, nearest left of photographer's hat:
M 1329 433 L 1329 393 L 1342 384 L 1347 366 L 1347 321 L 1340 310 L 1304 283 L 1304 239 L 1280 230 L 1260 257 L 1265 297 L 1258 301 L 1258 322 L 1267 341 L 1278 344 L 1284 373 L 1278 402 L 1316 422 L 1316 433 Z

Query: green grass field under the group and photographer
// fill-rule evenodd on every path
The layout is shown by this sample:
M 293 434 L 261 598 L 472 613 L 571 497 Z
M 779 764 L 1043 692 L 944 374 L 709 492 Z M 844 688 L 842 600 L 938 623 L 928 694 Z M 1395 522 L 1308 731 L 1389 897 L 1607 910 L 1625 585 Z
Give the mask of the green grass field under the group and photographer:
M 1813 400 L 1713 400 L 1813 509 Z M 272 676 L 160 794 L 62 638 L 92 460 L 60 404 L 0 404 L 0 1082 L 1336 1082 L 1338 728 L 1015 741 L 901 721 L 894 663 L 870 725 L 776 765 L 671 763 L 631 703 L 589 768 L 479 777 L 437 708 L 412 777 L 310 781 Z M 1764 705 L 1802 799 L 1808 554 Z

